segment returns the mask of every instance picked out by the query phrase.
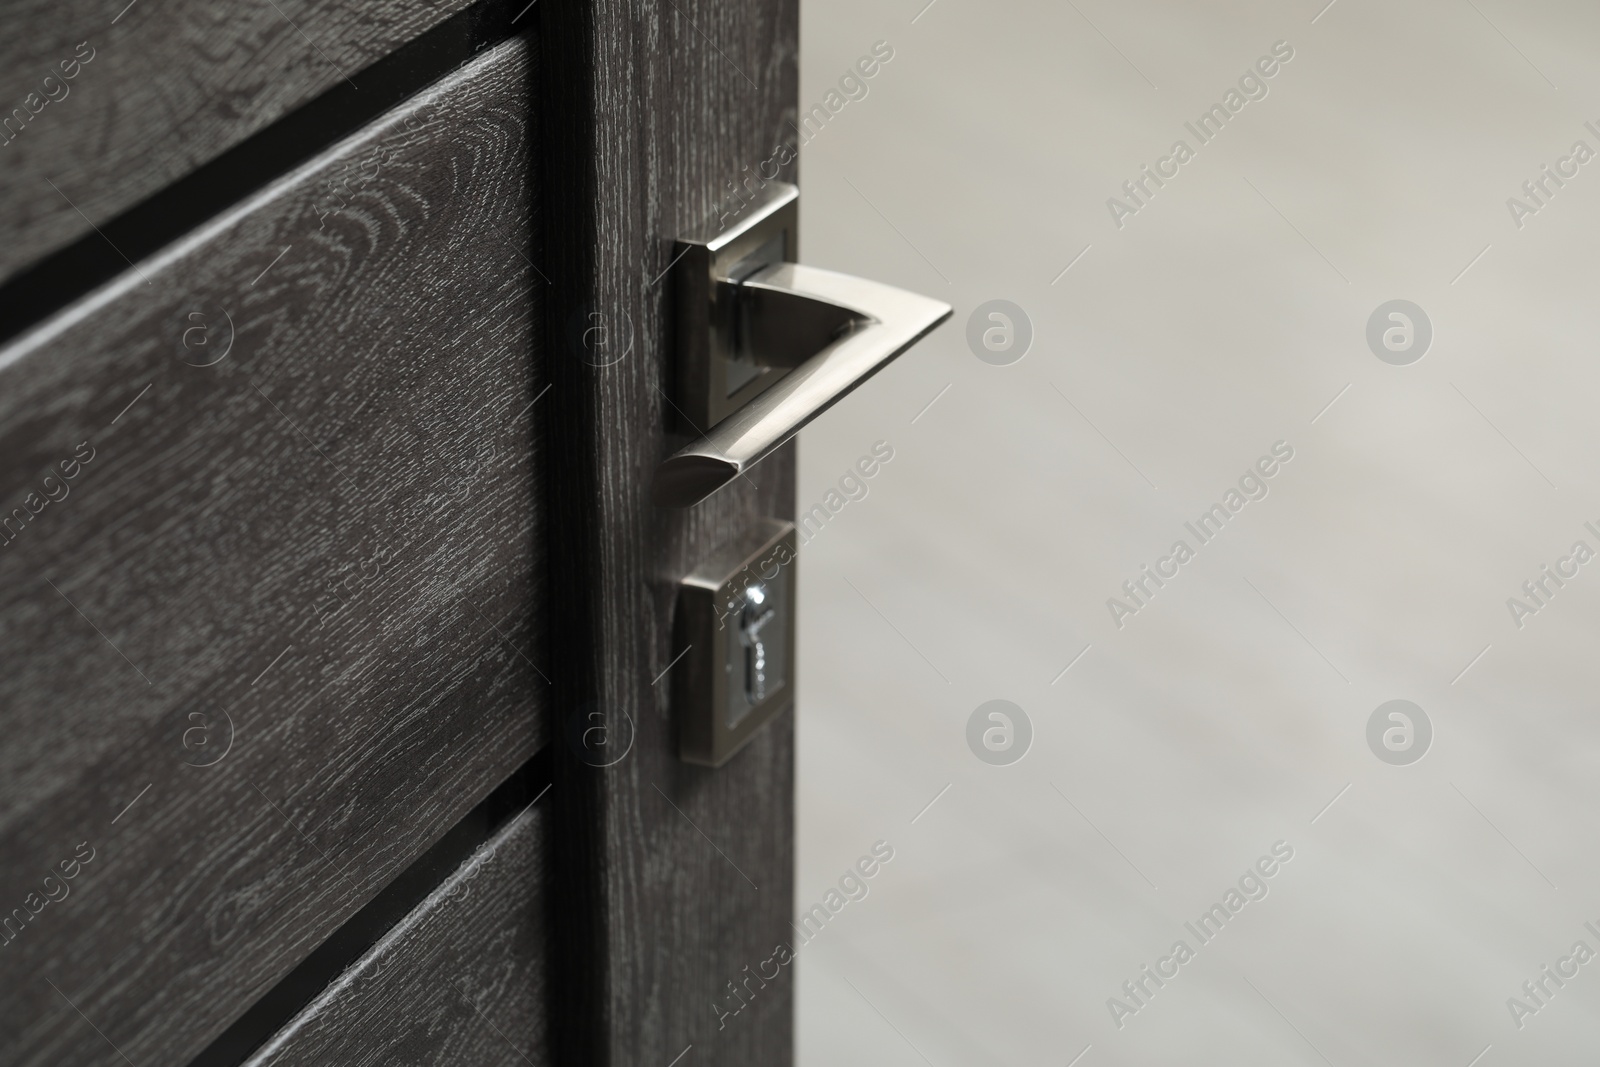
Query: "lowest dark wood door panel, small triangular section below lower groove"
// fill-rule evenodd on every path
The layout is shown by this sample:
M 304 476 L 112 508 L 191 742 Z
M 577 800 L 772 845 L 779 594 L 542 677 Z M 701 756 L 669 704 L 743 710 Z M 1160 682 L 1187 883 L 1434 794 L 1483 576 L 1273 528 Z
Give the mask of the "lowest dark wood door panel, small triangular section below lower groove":
M 528 808 L 246 1067 L 539 1067 L 547 814 Z

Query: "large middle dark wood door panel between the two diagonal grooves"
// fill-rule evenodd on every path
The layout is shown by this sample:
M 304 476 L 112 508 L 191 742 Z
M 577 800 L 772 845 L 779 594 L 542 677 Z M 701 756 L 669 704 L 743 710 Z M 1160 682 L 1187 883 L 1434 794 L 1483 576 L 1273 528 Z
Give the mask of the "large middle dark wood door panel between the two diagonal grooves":
M 8 1067 L 184 1062 L 541 744 L 531 56 L 0 349 L 0 917 L 94 849 Z

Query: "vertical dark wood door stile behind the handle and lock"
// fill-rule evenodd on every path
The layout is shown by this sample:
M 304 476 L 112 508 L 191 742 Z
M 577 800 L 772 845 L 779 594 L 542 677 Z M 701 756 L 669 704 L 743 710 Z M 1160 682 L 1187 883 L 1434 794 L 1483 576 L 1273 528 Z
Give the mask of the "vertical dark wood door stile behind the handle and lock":
M 691 510 L 650 504 L 670 432 L 666 282 L 672 238 L 715 221 L 726 182 L 790 139 L 794 0 L 541 5 L 549 150 L 554 382 L 547 470 L 571 531 L 552 569 L 555 723 L 632 731 L 598 768 L 558 745 L 555 1017 L 562 1062 L 661 1067 L 792 1061 L 792 981 L 718 1027 L 714 1005 L 787 941 L 794 878 L 792 717 L 718 769 L 678 761 L 670 686 L 677 581 L 760 515 L 794 515 L 794 450 Z M 794 179 L 792 168 L 781 174 Z M 606 350 L 574 323 L 611 325 Z M 592 334 L 589 341 L 594 341 Z M 627 344 L 630 342 L 630 344 Z M 597 358 L 598 357 L 598 358 Z M 619 357 L 619 358 L 618 358 Z M 614 362 L 613 362 L 614 360 Z M 618 742 L 621 744 L 621 742 Z M 718 851 L 720 849 L 720 851 Z

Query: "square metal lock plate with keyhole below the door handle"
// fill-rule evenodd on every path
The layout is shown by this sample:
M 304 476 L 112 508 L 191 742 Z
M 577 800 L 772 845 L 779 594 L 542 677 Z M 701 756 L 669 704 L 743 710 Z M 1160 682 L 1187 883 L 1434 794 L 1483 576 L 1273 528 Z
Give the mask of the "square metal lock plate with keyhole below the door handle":
M 795 528 L 763 518 L 678 585 L 678 757 L 722 766 L 794 702 Z

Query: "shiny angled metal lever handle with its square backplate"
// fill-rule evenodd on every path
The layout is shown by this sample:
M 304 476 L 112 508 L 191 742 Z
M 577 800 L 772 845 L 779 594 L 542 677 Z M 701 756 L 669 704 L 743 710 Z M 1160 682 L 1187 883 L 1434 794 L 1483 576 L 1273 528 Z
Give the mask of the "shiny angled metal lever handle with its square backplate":
M 950 317 L 942 301 L 792 262 L 798 190 L 768 190 L 739 227 L 680 242 L 675 406 L 709 429 L 656 469 L 661 507 L 728 485 Z

